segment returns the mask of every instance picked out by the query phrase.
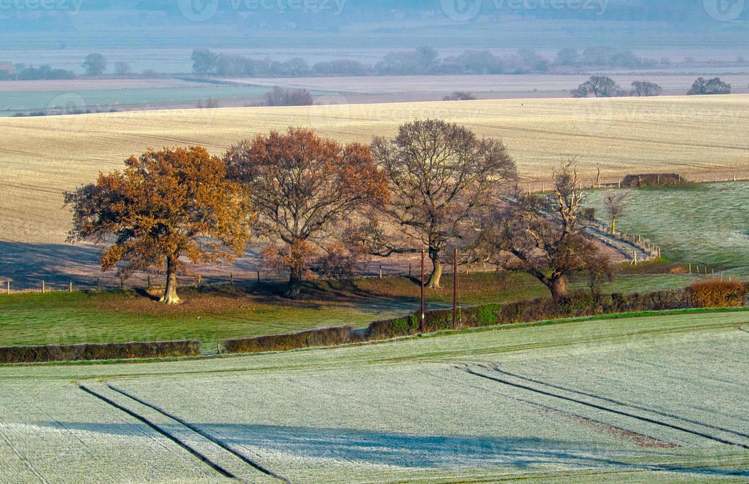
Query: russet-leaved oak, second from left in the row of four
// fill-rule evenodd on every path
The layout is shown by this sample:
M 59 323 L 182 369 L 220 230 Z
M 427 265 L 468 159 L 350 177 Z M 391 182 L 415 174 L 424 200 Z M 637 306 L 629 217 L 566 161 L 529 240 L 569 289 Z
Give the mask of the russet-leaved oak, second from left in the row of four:
M 306 272 L 324 272 L 342 254 L 356 257 L 357 248 L 346 244 L 349 221 L 387 198 L 385 174 L 369 147 L 344 146 L 308 129 L 241 141 L 225 161 L 257 210 L 264 259 L 289 273 L 285 298 L 300 297 Z

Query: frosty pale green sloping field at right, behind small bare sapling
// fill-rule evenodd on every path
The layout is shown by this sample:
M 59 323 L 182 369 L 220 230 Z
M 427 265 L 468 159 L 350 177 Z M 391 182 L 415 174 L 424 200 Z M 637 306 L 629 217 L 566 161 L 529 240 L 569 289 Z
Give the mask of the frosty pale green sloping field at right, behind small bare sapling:
M 604 194 L 589 192 L 586 200 L 601 218 L 606 213 Z M 668 257 L 745 277 L 749 275 L 747 206 L 747 182 L 639 189 L 629 195 L 618 226 L 657 241 Z

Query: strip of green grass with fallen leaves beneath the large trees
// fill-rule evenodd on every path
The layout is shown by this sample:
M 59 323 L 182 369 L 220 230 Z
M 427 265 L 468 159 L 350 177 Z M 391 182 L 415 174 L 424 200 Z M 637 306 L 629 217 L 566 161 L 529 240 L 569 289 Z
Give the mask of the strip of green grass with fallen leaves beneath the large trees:
M 658 267 L 653 267 L 658 270 Z M 606 292 L 646 292 L 684 287 L 686 275 L 621 275 Z M 585 290 L 585 282 L 571 284 Z M 363 279 L 309 284 L 303 301 L 276 294 L 282 284 L 184 288 L 178 307 L 166 307 L 142 293 L 49 292 L 0 295 L 0 346 L 197 339 L 215 352 L 226 338 L 282 334 L 326 326 L 363 328 L 378 319 L 413 313 L 419 285 L 407 278 Z M 545 297 L 548 291 L 527 275 L 476 272 L 461 275 L 459 301 L 479 305 Z M 452 305 L 451 276 L 427 292 L 427 308 Z

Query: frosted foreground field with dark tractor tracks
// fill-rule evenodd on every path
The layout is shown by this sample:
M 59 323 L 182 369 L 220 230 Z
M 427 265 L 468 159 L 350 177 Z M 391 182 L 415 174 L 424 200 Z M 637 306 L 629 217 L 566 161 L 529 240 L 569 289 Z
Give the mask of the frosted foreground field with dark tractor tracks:
M 749 313 L 0 367 L 0 482 L 746 482 L 740 328 Z

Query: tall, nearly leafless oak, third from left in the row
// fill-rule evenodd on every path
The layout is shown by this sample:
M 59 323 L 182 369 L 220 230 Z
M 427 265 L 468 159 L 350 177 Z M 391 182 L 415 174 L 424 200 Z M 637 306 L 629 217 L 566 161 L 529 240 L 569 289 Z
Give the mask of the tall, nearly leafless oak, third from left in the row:
M 502 141 L 443 120 L 404 124 L 393 139 L 375 138 L 372 153 L 389 180 L 386 221 L 404 231 L 370 248 L 382 256 L 427 248 L 428 287 L 437 289 L 443 251 L 515 185 L 515 162 Z

